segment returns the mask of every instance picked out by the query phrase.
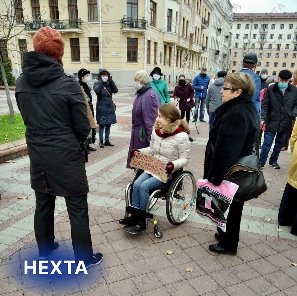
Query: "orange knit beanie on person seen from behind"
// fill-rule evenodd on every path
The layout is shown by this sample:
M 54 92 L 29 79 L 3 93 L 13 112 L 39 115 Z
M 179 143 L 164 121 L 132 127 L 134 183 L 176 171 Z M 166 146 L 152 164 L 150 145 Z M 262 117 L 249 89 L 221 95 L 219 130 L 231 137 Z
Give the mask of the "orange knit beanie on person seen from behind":
M 65 42 L 61 34 L 49 26 L 40 28 L 33 36 L 34 50 L 54 60 L 62 58 L 64 45 Z

